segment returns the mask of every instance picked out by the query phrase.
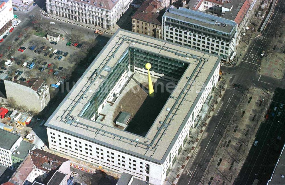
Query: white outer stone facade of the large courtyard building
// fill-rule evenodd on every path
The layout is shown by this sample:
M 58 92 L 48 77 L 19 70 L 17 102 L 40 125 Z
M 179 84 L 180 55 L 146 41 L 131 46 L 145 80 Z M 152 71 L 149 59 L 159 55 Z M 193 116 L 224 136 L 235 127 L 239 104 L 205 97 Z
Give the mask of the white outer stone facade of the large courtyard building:
M 178 156 L 179 149 L 183 147 L 184 139 L 188 138 L 189 130 L 194 126 L 194 120 L 198 116 L 203 103 L 217 84 L 218 78 L 219 65 L 209 81 L 204 85 L 201 84 L 203 86 L 199 92 L 201 98 L 195 105 L 187 124 L 180 132 L 176 143 L 163 164 L 154 163 L 48 127 L 47 134 L 50 149 L 92 163 L 97 167 L 117 173 L 126 172 L 133 174 L 135 178 L 149 181 L 151 184 L 161 185 L 166 179 L 167 172 L 172 168 L 172 162 Z M 201 86 L 197 89 L 201 89 Z

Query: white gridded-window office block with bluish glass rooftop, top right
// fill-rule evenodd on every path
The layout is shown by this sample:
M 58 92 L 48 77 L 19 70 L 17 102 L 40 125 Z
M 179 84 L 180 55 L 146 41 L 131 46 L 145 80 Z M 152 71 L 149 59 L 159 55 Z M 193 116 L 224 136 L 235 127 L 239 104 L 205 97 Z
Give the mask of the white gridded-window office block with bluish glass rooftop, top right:
M 235 51 L 237 23 L 200 11 L 170 7 L 162 18 L 163 39 L 228 61 Z

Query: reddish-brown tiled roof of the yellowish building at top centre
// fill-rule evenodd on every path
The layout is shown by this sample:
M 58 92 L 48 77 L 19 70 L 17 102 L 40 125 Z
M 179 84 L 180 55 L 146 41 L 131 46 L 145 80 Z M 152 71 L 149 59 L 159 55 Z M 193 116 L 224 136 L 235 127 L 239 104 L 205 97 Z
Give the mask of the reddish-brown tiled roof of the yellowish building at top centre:
M 139 9 L 135 12 L 132 18 L 160 25 L 162 22 L 160 18 L 162 17 L 159 17 L 160 14 L 157 13 L 160 10 L 160 8 L 161 6 L 158 1 L 146 0 L 139 7 Z

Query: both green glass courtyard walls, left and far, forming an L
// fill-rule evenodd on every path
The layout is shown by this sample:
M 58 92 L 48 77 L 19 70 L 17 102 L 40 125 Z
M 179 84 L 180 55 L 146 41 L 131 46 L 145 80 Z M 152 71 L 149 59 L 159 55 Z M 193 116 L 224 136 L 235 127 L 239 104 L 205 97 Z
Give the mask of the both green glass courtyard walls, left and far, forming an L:
M 99 106 L 107 98 L 107 95 L 111 89 L 113 89 L 122 74 L 129 69 L 129 65 L 130 70 L 133 72 L 133 66 L 145 68 L 145 64 L 148 62 L 151 64 L 151 69 L 155 73 L 164 74 L 176 79 L 180 79 L 188 67 L 187 63 L 181 61 L 129 48 L 129 52 L 125 53 L 123 58 L 116 63 L 105 77 L 93 98 L 90 100 L 90 103 L 87 105 L 88 107 L 84 109 L 85 111 L 82 113 L 82 117 L 91 119 L 95 114 L 95 118 L 97 118 Z

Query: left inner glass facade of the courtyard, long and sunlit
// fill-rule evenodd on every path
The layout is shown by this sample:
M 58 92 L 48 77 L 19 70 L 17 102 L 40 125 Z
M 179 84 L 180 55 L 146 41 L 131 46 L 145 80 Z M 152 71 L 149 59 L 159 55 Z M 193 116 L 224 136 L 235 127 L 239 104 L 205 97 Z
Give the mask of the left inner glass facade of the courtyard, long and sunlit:
M 117 62 L 117 64 L 112 68 L 112 70 L 105 77 L 104 81 L 101 83 L 99 89 L 94 94 L 93 98 L 90 100 L 90 104 L 86 111 L 83 113 L 83 117 L 91 119 L 95 114 L 95 117 L 98 116 L 98 107 L 103 103 L 107 98 L 107 95 L 110 93 L 111 89 L 115 86 L 117 81 L 120 79 L 122 74 L 129 68 L 129 55 L 128 52 L 124 57 Z

